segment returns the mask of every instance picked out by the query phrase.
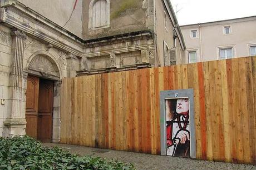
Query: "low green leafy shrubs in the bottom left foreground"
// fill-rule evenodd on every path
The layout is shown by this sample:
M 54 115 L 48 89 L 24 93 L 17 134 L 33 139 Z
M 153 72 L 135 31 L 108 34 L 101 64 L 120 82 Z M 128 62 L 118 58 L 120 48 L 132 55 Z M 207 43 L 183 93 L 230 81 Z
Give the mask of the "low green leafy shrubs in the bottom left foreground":
M 77 156 L 61 148 L 43 147 L 33 138 L 0 137 L 0 169 L 135 169 L 132 164 L 100 157 Z

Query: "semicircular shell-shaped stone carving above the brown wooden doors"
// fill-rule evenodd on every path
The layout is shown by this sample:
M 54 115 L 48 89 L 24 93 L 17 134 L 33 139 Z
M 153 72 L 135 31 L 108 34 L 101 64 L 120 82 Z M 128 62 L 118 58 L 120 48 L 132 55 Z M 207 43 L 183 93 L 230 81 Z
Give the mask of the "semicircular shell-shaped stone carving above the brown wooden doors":
M 41 74 L 46 73 L 52 76 L 60 77 L 60 74 L 58 73 L 57 68 L 54 64 L 55 63 L 52 63 L 47 57 L 42 55 L 37 55 L 29 63 L 28 69 L 32 69 L 33 71 L 38 71 Z

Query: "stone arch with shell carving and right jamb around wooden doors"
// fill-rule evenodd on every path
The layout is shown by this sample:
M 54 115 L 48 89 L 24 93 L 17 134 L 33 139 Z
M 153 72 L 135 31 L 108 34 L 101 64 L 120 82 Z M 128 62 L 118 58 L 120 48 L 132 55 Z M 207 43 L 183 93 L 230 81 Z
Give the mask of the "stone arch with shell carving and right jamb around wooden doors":
M 41 79 L 53 81 L 53 109 L 52 109 L 52 142 L 60 142 L 60 91 L 61 71 L 56 59 L 46 52 L 34 53 L 27 62 L 24 79 L 27 84 L 28 74 Z M 27 87 L 26 89 L 27 90 Z

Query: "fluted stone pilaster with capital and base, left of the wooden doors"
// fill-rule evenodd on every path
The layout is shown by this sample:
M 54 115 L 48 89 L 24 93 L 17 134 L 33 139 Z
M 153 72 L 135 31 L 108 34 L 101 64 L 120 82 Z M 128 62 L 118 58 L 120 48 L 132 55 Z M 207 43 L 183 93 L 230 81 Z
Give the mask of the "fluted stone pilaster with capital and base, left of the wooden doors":
M 3 122 L 4 136 L 24 135 L 26 128 L 25 112 L 22 109 L 23 55 L 26 34 L 14 30 L 12 36 L 11 68 L 9 74 L 8 118 Z

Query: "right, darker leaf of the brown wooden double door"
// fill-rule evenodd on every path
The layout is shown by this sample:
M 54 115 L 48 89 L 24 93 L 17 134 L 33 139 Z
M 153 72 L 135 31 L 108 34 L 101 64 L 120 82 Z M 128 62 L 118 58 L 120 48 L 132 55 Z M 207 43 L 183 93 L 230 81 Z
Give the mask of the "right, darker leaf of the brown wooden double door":
M 52 139 L 53 82 L 40 79 L 38 99 L 37 139 L 51 142 Z

